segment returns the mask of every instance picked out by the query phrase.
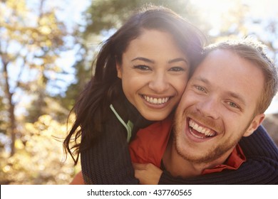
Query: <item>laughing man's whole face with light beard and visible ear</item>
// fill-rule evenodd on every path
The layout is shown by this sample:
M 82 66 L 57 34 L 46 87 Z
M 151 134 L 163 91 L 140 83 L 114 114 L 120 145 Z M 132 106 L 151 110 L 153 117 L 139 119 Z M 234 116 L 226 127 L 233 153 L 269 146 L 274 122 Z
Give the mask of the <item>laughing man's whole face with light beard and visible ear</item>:
M 230 154 L 264 119 L 254 115 L 262 71 L 229 50 L 214 50 L 187 84 L 175 117 L 175 147 L 183 158 L 210 163 Z

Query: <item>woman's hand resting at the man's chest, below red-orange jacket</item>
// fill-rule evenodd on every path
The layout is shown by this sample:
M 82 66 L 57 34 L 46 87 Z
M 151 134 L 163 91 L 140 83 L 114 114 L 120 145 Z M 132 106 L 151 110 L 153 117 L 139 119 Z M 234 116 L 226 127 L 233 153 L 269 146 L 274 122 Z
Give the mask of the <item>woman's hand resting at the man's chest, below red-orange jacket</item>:
M 133 163 L 135 178 L 142 185 L 157 185 L 163 171 L 152 163 Z

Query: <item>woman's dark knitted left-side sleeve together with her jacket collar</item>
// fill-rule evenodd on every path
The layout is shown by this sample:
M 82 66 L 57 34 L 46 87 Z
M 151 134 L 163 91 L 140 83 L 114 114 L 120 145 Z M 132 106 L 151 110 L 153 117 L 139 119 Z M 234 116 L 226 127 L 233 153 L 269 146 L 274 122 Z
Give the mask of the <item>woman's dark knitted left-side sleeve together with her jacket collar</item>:
M 133 122 L 134 135 L 152 122 L 145 120 L 127 99 L 116 98 L 113 107 L 125 123 Z M 81 152 L 81 167 L 87 184 L 138 184 L 128 150 L 127 129 L 112 109 L 103 132 L 87 151 Z

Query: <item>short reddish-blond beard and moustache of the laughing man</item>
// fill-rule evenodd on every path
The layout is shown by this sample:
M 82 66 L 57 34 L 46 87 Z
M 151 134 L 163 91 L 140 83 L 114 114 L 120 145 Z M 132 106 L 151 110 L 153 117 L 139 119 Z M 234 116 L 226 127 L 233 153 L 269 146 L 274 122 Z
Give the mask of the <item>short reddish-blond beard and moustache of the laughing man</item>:
M 216 129 L 219 133 L 221 131 L 221 134 L 225 134 L 225 131 L 222 130 L 222 128 L 215 124 L 215 122 L 210 121 L 210 119 L 201 119 L 200 116 L 195 114 L 194 112 L 185 112 L 185 115 L 189 115 L 192 119 L 197 119 L 197 121 L 202 122 L 203 125 L 207 127 L 213 127 L 213 129 Z M 184 120 L 184 118 L 183 118 Z M 215 144 L 214 146 L 210 146 L 210 149 L 207 149 L 207 152 L 202 154 L 201 156 L 195 156 L 194 154 L 189 154 L 186 149 L 183 149 L 182 147 L 182 138 L 180 138 L 180 133 L 182 129 L 179 129 L 180 125 L 177 125 L 178 122 L 184 122 L 182 119 L 175 120 L 174 128 L 173 128 L 173 144 L 175 144 L 175 149 L 177 151 L 177 154 L 184 158 L 186 161 L 190 161 L 192 163 L 210 163 L 212 161 L 215 161 L 217 158 L 220 158 L 223 156 L 227 151 L 230 151 L 230 149 L 233 149 L 236 144 L 240 141 L 242 138 L 242 135 L 245 131 L 247 131 L 249 125 L 252 122 L 252 119 L 248 123 L 247 127 L 244 128 L 244 130 L 237 134 L 237 136 L 231 136 L 230 138 L 227 138 L 226 140 L 222 140 L 220 144 Z M 207 124 L 207 125 L 206 125 Z M 214 138 L 212 138 L 214 139 Z M 190 145 L 189 145 L 190 146 Z

